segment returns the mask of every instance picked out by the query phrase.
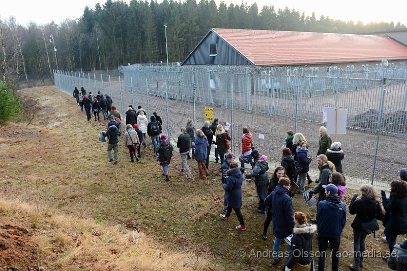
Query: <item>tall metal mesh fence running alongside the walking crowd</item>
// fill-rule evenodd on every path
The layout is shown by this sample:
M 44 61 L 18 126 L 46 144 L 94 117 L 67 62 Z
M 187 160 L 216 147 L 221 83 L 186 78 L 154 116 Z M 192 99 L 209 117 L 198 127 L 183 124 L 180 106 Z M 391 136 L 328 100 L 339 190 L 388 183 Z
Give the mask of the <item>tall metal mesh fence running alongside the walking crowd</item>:
M 302 132 L 309 156 L 315 157 L 323 107 L 347 109 L 346 135 L 331 135 L 342 143 L 347 182 L 389 187 L 406 167 L 403 66 L 355 70 L 131 65 L 102 72 L 54 71 L 54 78 L 55 86 L 70 95 L 82 86 L 110 95 L 123 115 L 130 104 L 141 105 L 149 116 L 156 112 L 173 142 L 187 119 L 200 128 L 204 108 L 213 107 L 220 124 L 230 124 L 231 151 L 241 153 L 242 130 L 249 127 L 256 149 L 268 155 L 272 167 L 280 165 L 287 130 Z M 318 175 L 316 162 L 310 173 Z

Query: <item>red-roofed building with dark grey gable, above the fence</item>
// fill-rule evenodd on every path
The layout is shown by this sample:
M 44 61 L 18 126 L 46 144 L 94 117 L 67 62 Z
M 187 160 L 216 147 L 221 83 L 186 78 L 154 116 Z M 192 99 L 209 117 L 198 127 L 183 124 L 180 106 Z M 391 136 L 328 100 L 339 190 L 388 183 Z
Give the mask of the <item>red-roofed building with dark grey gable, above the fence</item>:
M 384 36 L 211 29 L 182 65 L 345 67 L 404 61 L 407 46 Z

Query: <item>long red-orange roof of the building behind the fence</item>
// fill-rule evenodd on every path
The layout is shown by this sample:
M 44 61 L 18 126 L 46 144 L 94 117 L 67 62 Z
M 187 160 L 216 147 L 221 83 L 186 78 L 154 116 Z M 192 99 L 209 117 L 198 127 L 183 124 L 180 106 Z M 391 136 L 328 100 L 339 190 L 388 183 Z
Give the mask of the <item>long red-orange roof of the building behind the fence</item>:
M 314 32 L 212 29 L 254 65 L 294 65 L 407 59 L 388 38 Z

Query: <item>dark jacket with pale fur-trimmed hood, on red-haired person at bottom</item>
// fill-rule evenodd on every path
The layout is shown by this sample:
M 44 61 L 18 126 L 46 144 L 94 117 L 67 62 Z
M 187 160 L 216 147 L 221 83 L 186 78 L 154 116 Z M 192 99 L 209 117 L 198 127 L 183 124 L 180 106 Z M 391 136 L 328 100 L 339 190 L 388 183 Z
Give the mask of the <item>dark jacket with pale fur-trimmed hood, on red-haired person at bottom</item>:
M 312 236 L 316 231 L 316 225 L 296 225 L 294 235 L 291 238 L 291 250 L 285 264 L 292 269 L 296 263 L 307 265 L 312 256 Z M 296 251 L 296 253 L 293 253 Z

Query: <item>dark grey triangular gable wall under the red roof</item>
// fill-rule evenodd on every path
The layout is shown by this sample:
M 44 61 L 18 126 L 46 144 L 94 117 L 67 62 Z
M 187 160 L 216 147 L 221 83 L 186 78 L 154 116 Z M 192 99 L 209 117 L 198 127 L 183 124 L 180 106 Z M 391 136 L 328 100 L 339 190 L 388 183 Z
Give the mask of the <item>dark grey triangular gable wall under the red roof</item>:
M 210 55 L 210 45 L 216 43 L 216 56 Z M 235 48 L 212 31 L 198 44 L 182 65 L 253 65 Z

